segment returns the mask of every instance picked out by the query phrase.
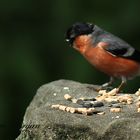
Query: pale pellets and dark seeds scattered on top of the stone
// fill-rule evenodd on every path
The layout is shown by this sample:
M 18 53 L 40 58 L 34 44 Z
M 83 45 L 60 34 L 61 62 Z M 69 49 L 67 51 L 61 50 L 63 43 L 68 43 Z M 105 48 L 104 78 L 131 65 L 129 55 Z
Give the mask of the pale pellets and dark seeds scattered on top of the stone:
M 65 87 L 66 88 L 66 87 Z M 132 94 L 133 95 L 133 94 Z M 107 92 L 100 90 L 96 97 L 75 98 L 69 94 L 64 95 L 64 99 L 77 104 L 78 107 L 70 107 L 62 104 L 51 105 L 51 108 L 59 109 L 70 113 L 79 113 L 84 115 L 104 115 L 106 112 L 100 110 L 100 107 L 108 106 L 110 112 L 119 113 L 123 111 L 123 105 L 135 104 L 136 112 L 140 113 L 140 89 L 135 93 L 135 98 L 131 94 L 119 94 L 117 88 Z

